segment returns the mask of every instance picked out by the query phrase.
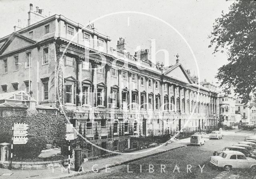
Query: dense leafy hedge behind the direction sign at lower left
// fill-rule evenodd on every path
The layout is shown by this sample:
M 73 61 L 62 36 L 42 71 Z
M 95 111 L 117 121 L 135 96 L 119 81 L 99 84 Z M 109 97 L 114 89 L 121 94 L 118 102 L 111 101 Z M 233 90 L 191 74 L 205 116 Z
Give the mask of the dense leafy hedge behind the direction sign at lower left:
M 0 117 L 0 143 L 11 143 L 12 125 L 16 122 L 27 123 L 28 143 L 14 145 L 14 155 L 19 158 L 37 157 L 46 144 L 55 147 L 66 145 L 66 119 L 62 115 L 35 113 L 32 115 L 11 115 Z

